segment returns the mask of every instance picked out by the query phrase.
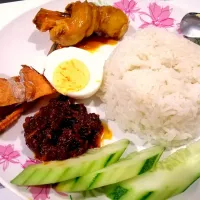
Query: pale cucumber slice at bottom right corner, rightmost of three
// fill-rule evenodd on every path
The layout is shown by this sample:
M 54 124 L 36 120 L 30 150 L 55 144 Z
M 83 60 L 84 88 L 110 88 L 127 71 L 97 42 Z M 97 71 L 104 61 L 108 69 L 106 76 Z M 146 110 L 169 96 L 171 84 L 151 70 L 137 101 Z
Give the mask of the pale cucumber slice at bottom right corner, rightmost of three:
M 113 200 L 165 200 L 184 192 L 200 177 L 200 141 L 180 149 L 154 170 L 105 187 Z

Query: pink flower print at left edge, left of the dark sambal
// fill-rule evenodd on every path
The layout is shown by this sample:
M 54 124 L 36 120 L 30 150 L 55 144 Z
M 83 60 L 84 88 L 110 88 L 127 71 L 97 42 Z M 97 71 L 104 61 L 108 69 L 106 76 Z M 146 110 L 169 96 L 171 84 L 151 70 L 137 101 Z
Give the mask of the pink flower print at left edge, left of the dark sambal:
M 3 165 L 3 171 L 6 171 L 10 163 L 19 163 L 17 160 L 19 156 L 19 152 L 14 150 L 13 145 L 0 145 L 0 165 Z

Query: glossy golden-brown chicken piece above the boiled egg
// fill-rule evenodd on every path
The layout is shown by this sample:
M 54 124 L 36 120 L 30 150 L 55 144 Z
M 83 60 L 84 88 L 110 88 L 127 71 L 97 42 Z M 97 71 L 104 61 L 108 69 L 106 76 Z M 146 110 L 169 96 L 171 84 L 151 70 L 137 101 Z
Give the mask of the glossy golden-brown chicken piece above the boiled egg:
M 75 45 L 94 32 L 121 39 L 128 29 L 128 17 L 123 11 L 87 1 L 71 3 L 57 15 L 58 11 L 41 9 L 33 23 L 40 31 L 49 30 L 51 40 L 62 46 Z

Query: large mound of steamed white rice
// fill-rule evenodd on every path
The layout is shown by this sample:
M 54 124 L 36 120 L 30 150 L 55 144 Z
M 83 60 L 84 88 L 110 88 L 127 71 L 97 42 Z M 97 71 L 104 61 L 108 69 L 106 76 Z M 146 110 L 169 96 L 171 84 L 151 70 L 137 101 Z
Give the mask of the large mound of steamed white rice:
M 200 46 L 164 29 L 139 30 L 106 61 L 98 95 L 124 131 L 183 144 L 200 133 Z

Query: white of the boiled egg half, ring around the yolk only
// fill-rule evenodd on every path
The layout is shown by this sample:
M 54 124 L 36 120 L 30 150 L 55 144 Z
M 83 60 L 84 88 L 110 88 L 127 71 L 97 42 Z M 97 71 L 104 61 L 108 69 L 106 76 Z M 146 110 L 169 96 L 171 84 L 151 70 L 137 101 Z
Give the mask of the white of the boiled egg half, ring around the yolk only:
M 53 83 L 54 70 L 62 62 L 69 61 L 71 59 L 80 60 L 85 64 L 90 73 L 90 80 L 85 88 L 78 92 L 69 92 L 67 96 L 75 99 L 89 98 L 94 95 L 101 86 L 103 80 L 103 67 L 106 58 L 104 56 L 100 56 L 98 53 L 90 53 L 76 47 L 62 48 L 52 52 L 47 56 L 44 66 L 44 76 L 53 87 L 55 87 Z

